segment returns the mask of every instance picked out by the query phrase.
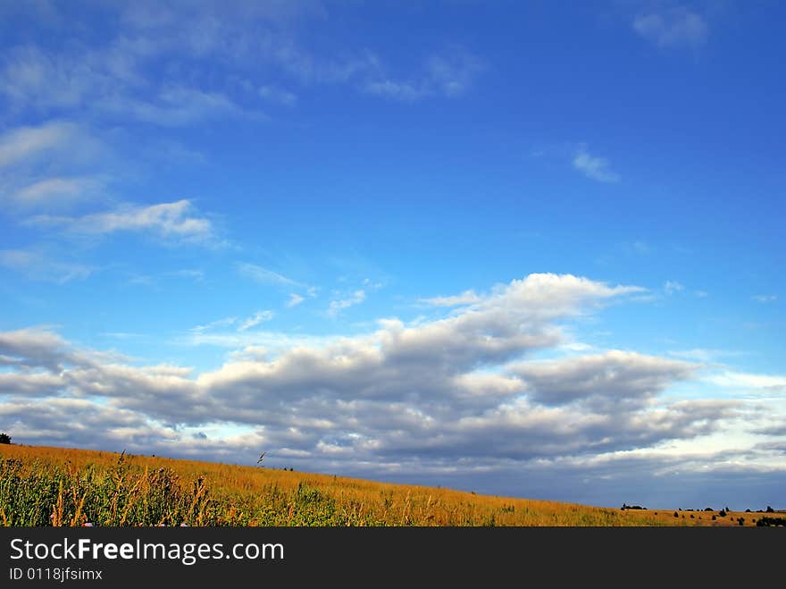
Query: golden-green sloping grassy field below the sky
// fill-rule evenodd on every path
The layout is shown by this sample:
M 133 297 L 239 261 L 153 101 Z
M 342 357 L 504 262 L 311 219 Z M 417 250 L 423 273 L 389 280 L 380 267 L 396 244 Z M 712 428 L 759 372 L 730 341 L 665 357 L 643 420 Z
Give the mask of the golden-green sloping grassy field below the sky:
M 786 522 L 786 514 L 765 515 Z M 263 467 L 0 446 L 4 526 L 740 526 L 740 517 L 743 526 L 756 526 L 763 514 L 596 508 Z

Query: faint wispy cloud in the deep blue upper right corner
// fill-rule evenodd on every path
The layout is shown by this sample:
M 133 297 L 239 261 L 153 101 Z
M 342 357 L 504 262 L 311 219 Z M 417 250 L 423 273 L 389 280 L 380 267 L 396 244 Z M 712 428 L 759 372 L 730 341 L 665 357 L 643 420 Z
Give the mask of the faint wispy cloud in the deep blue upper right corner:
M 633 20 L 633 29 L 642 38 L 661 47 L 698 47 L 707 42 L 709 34 L 707 21 L 682 7 L 640 14 Z

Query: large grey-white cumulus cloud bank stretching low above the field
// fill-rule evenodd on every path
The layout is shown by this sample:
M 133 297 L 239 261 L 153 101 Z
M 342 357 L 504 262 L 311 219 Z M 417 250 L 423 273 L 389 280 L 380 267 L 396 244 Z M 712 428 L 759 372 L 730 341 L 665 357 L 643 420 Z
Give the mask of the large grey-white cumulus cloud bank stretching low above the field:
M 216 459 L 247 452 L 250 462 L 265 448 L 298 467 L 432 483 L 436 476 L 457 481 L 512 468 L 541 475 L 601 466 L 623 472 L 632 457 L 642 465 L 681 464 L 694 460 L 689 450 L 669 448 L 706 447 L 725 424 L 757 415 L 743 411 L 742 401 L 666 396 L 702 366 L 622 350 L 531 358 L 559 349 L 566 341 L 561 325 L 571 317 L 639 290 L 531 274 L 477 293 L 447 317 L 384 319 L 375 331 L 352 337 L 280 335 L 276 342 L 274 334 L 237 333 L 253 335 L 247 338 L 253 343 L 201 373 L 137 366 L 80 349 L 45 328 L 2 332 L 0 420 L 26 443 L 125 442 L 146 452 Z M 237 327 L 256 318 L 221 321 Z M 730 386 L 782 386 L 781 377 L 726 376 Z M 761 444 L 777 421 L 759 417 L 753 425 Z M 96 431 L 73 425 L 101 420 Z M 773 451 L 756 450 L 750 460 L 769 461 Z

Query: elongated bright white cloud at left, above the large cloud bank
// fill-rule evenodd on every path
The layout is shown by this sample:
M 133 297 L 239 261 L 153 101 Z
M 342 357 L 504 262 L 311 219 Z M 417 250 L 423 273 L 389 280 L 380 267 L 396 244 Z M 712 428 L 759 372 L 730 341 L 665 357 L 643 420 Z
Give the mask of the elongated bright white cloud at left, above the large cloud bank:
M 209 242 L 214 237 L 213 224 L 205 217 L 195 215 L 188 200 L 150 206 L 125 205 L 111 212 L 81 217 L 38 215 L 28 223 L 61 227 L 63 231 L 76 235 L 141 231 L 180 242 Z

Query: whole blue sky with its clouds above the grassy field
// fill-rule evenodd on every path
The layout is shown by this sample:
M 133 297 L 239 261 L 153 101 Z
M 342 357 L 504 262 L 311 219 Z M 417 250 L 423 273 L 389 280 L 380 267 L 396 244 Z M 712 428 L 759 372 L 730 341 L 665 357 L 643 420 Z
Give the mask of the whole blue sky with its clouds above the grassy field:
M 399 4 L 0 7 L 0 429 L 779 501 L 782 6 Z

